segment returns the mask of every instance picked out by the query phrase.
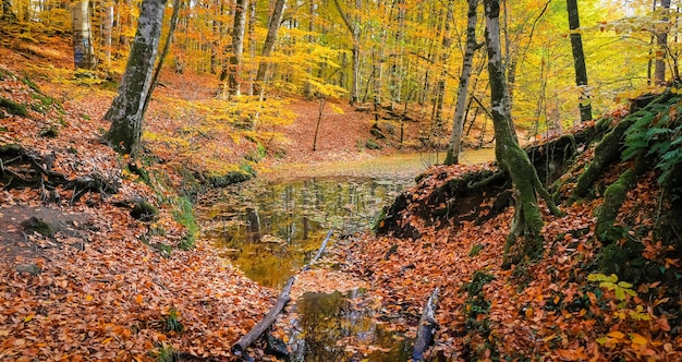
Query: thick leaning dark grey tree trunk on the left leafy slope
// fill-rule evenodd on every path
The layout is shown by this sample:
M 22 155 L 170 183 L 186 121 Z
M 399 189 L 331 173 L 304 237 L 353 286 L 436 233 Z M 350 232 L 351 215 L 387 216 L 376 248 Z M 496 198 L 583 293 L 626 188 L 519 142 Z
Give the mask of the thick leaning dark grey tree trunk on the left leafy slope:
M 143 0 L 137 32 L 119 94 L 105 114 L 105 119 L 111 121 L 105 138 L 117 152 L 130 154 L 134 158 L 139 152 L 144 102 L 151 83 L 165 8 L 166 0 Z

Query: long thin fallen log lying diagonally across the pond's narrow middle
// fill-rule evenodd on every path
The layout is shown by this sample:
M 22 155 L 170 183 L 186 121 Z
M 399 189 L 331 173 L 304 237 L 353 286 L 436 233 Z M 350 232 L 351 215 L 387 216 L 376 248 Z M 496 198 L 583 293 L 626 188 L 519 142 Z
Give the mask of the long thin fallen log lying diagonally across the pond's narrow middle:
M 317 260 L 322 255 L 325 249 L 327 248 L 327 243 L 329 242 L 329 238 L 331 238 L 331 232 L 332 230 L 329 230 L 329 232 L 327 233 L 327 238 L 325 238 L 325 240 L 322 241 L 322 244 L 319 246 L 319 250 L 317 251 L 317 254 L 315 254 L 315 257 L 313 257 L 313 260 L 308 264 L 301 268 L 301 272 L 309 269 L 310 265 L 317 262 Z M 248 346 L 256 341 L 256 339 L 260 338 L 260 336 L 275 323 L 277 316 L 282 312 L 287 303 L 289 303 L 289 301 L 291 300 L 289 293 L 291 292 L 291 287 L 293 287 L 295 280 L 295 275 L 287 280 L 287 285 L 284 286 L 284 288 L 282 288 L 282 291 L 280 292 L 277 302 L 275 302 L 275 305 L 272 305 L 268 314 L 266 314 L 265 317 L 260 322 L 258 322 L 255 327 L 253 327 L 253 329 L 251 329 L 246 335 L 240 338 L 236 343 L 232 345 L 231 350 L 234 355 L 241 358 L 246 357 L 246 353 L 244 353 L 244 351 L 246 351 L 246 348 L 248 348 Z

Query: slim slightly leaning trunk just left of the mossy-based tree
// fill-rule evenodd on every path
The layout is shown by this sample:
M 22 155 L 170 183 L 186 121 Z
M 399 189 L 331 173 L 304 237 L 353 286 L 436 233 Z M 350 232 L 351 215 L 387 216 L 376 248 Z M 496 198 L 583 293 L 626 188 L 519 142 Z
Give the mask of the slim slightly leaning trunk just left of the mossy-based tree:
M 468 0 L 466 46 L 464 48 L 464 59 L 462 60 L 462 75 L 460 76 L 460 85 L 458 88 L 456 106 L 454 108 L 452 135 L 446 154 L 446 165 L 454 165 L 460 161 L 462 131 L 464 129 L 466 110 L 466 95 L 468 93 L 468 82 L 471 80 L 472 68 L 474 64 L 474 51 L 476 51 L 476 7 L 478 7 L 478 0 Z

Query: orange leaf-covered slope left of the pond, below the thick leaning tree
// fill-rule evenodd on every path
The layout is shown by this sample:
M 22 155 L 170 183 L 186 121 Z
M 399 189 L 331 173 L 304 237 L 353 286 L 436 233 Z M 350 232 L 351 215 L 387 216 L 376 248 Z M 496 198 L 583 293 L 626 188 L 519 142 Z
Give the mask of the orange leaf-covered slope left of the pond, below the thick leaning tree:
M 99 144 L 96 130 L 108 124 L 42 109 L 36 89 L 5 68 L 0 73 L 0 97 L 25 105 L 22 116 L 0 108 L 0 148 L 41 166 L 3 165 L 0 360 L 154 360 L 165 350 L 230 357 L 276 293 L 202 241 L 172 248 L 186 228 Z M 80 194 L 74 180 L 101 182 Z M 37 186 L 12 186 L 24 181 Z M 137 200 L 157 204 L 158 216 L 133 218 L 126 204 Z M 48 231 L 32 228 L 32 219 Z

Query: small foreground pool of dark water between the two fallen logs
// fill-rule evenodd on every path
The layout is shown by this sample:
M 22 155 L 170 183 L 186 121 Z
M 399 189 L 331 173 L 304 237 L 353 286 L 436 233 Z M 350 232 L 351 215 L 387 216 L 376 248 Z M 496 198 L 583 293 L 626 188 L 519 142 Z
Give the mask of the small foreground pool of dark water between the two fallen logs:
M 386 330 L 375 311 L 356 305 L 358 291 L 303 294 L 292 322 L 291 361 L 407 361 L 413 341 Z

